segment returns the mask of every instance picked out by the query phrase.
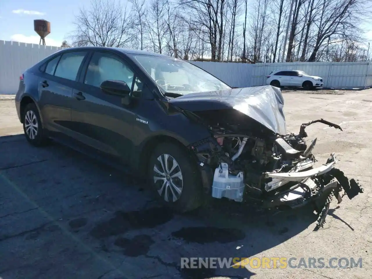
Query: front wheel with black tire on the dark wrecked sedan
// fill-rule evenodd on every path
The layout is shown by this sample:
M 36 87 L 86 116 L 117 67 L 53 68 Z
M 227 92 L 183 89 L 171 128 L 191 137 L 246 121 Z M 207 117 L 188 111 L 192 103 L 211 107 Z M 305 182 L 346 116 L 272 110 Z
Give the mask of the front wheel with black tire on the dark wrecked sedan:
M 168 167 L 165 165 L 166 158 Z M 200 172 L 191 156 L 178 145 L 171 142 L 157 145 L 150 157 L 147 172 L 155 195 L 174 211 L 184 213 L 202 205 Z

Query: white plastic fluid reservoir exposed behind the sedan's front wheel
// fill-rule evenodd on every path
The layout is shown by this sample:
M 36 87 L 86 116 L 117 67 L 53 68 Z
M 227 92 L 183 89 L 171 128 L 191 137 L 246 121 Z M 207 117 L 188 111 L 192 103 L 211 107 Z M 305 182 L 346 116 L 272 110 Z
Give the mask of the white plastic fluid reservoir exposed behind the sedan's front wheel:
M 229 173 L 228 164 L 221 163 L 221 167 L 214 171 L 212 197 L 218 199 L 225 197 L 236 202 L 243 201 L 243 179 L 242 171 L 238 175 L 232 175 Z

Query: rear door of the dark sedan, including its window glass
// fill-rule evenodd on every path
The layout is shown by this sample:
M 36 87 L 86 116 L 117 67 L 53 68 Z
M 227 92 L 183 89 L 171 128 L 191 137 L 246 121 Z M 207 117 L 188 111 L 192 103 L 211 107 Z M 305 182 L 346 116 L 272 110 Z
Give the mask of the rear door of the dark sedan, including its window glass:
M 39 106 L 45 128 L 71 135 L 71 97 L 87 51 L 64 52 L 42 66 Z M 58 133 L 57 133 L 58 134 Z

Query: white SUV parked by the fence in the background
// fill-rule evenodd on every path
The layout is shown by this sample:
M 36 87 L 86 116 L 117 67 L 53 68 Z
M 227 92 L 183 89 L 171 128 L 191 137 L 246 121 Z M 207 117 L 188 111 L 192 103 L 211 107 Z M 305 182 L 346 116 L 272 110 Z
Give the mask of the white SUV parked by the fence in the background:
M 323 86 L 323 79 L 298 70 L 275 70 L 267 76 L 266 84 L 275 87 L 298 86 L 310 90 L 314 87 Z

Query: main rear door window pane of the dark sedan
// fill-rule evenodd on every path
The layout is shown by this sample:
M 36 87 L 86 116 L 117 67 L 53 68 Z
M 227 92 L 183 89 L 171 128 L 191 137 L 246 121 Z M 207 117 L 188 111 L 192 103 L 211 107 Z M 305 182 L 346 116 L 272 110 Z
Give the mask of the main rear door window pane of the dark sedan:
M 85 51 L 67 52 L 65 54 L 62 54 L 61 60 L 57 65 L 54 76 L 75 81 L 77 72 L 80 68 L 80 64 L 83 61 L 85 55 Z

